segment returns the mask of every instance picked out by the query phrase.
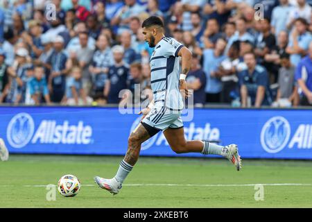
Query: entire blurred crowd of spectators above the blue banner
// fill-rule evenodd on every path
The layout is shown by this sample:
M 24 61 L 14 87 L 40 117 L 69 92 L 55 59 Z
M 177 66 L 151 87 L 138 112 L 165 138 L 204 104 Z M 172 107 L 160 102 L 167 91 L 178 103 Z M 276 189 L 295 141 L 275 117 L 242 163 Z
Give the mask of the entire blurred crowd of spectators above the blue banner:
M 150 99 L 141 23 L 193 53 L 196 107 L 312 105 L 312 1 L 1 0 L 0 103 L 104 105 Z M 131 96 L 133 95 L 133 96 Z

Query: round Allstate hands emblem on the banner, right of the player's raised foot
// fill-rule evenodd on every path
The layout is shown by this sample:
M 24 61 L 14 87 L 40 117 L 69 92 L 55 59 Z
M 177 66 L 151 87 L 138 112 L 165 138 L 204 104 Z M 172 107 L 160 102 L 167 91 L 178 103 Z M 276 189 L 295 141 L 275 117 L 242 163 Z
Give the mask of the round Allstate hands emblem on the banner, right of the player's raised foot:
M 272 117 L 261 130 L 261 144 L 268 153 L 278 153 L 287 144 L 291 126 L 284 117 Z

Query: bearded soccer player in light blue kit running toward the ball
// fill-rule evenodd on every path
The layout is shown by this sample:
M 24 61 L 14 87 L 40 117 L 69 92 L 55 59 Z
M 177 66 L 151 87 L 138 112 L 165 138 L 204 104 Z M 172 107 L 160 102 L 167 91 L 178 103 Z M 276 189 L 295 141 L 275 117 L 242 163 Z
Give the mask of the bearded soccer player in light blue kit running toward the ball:
M 139 112 L 143 114 L 143 118 L 128 139 L 128 151 L 119 165 L 116 176 L 112 179 L 96 176 L 95 182 L 110 193 L 118 194 L 123 181 L 139 158 L 141 144 L 160 130 L 163 131 L 175 153 L 222 155 L 239 171 L 241 158 L 235 144 L 218 146 L 200 140 L 187 141 L 184 137 L 183 122 L 180 117 L 183 108 L 180 90 L 184 96 L 189 96 L 185 78 L 191 68 L 191 51 L 175 39 L 164 36 L 164 24 L 159 17 L 149 17 L 143 22 L 142 28 L 146 42 L 151 48 L 155 47 L 150 58 L 150 83 L 154 99 L 146 109 Z M 179 57 L 182 57 L 182 74 L 179 73 Z

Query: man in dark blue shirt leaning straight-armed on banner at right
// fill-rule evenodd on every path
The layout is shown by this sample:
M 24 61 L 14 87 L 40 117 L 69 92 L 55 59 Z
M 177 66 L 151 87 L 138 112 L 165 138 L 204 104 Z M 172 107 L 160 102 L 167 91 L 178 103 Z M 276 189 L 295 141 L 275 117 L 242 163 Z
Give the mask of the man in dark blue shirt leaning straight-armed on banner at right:
M 259 108 L 261 105 L 270 105 L 268 94 L 268 73 L 266 69 L 257 65 L 254 53 L 246 53 L 244 62 L 247 69 L 239 72 L 239 86 L 241 92 L 241 105 L 247 107 L 248 96 L 250 105 Z

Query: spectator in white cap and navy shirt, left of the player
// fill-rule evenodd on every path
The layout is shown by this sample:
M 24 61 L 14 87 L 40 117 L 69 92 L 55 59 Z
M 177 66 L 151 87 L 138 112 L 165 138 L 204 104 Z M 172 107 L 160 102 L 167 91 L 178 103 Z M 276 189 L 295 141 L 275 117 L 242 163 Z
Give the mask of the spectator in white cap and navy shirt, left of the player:
M 119 93 L 122 93 L 121 90 L 128 88 L 129 66 L 123 62 L 123 52 L 122 46 L 116 45 L 112 47 L 114 65 L 108 71 L 108 79 L 104 89 L 104 96 L 107 99 L 107 103 L 118 104 L 121 102 Z

